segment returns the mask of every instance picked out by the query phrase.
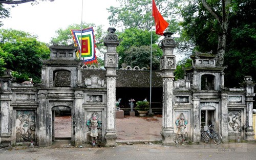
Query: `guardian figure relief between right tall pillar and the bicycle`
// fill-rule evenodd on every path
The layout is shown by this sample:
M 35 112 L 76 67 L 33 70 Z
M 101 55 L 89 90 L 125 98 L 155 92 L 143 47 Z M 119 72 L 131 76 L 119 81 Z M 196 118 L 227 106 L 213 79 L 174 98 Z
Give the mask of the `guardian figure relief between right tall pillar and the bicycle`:
M 180 117 L 175 121 L 175 124 L 177 126 L 177 133 L 176 133 L 176 139 L 174 140 L 175 143 L 179 143 L 179 142 L 184 142 L 185 141 L 185 128 L 187 125 L 187 120 L 185 120 L 185 116 L 183 115 L 183 113 L 180 114 Z

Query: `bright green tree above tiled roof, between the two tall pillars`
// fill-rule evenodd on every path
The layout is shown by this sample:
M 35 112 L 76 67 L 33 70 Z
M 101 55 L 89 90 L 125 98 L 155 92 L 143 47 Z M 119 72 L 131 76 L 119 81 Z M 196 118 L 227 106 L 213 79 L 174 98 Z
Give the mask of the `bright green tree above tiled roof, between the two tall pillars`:
M 147 30 L 140 30 L 137 28 L 130 28 L 130 29 L 126 29 L 124 30 L 124 32 L 120 32 L 117 33 L 118 37 L 121 39 L 120 44 L 117 47 L 117 52 L 118 52 L 118 56 L 119 56 L 119 67 L 122 66 L 123 63 L 125 63 L 125 65 L 133 65 L 134 62 L 129 61 L 129 60 L 133 60 L 134 58 L 138 56 L 135 56 L 131 51 L 135 51 L 139 49 L 139 47 L 146 45 L 150 48 L 151 45 L 151 32 L 147 31 Z M 158 40 L 159 36 L 154 32 L 152 34 L 152 43 L 156 43 Z M 130 49 L 131 47 L 134 47 L 133 49 Z M 155 49 L 158 48 L 156 47 L 156 45 L 154 45 Z M 158 48 L 159 49 L 159 48 Z M 153 59 L 157 59 L 157 57 L 155 56 L 161 56 L 162 55 L 162 51 L 157 50 L 157 54 L 152 54 Z M 148 51 L 148 50 L 147 50 Z M 131 55 L 130 55 L 131 54 Z M 148 57 L 148 54 L 140 54 L 143 58 L 147 59 L 150 58 Z M 150 50 L 149 50 L 149 55 L 150 55 Z M 129 57 L 127 57 L 129 56 Z M 126 58 L 127 57 L 127 58 Z M 138 61 L 138 60 L 136 60 Z M 144 61 L 146 62 L 146 61 Z M 156 61 L 157 62 L 157 61 Z M 138 64 L 136 62 L 136 64 Z M 150 63 L 142 63 L 139 66 L 148 66 L 148 64 Z

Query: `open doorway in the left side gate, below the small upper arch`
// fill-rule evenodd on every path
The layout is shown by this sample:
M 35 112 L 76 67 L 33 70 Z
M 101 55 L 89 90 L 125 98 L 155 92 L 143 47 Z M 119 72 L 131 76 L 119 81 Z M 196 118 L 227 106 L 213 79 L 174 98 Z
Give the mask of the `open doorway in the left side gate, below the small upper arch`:
M 71 140 L 72 138 L 72 114 L 68 106 L 56 106 L 52 108 L 52 141 Z

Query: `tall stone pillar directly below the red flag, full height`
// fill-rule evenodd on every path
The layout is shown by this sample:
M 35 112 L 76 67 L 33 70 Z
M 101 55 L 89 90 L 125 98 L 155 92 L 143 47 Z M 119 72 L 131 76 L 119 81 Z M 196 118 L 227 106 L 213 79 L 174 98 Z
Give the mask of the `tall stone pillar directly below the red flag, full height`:
M 161 42 L 163 56 L 160 60 L 160 71 L 163 78 L 163 117 L 162 117 L 162 143 L 170 145 L 174 143 L 174 121 L 173 121 L 173 89 L 174 71 L 176 69 L 176 56 L 173 54 L 176 43 L 171 37 L 172 33 L 164 33 Z

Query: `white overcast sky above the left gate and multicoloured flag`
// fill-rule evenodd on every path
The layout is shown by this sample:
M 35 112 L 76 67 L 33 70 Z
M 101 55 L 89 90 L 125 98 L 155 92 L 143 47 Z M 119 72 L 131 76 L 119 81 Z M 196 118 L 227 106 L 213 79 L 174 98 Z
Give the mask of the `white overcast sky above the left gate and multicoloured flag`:
M 66 29 L 72 24 L 80 24 L 81 19 L 86 23 L 103 25 L 103 29 L 107 30 L 111 26 L 108 21 L 110 13 L 106 8 L 110 6 L 118 6 L 117 1 L 55 0 L 54 2 L 39 1 L 35 6 L 30 3 L 20 4 L 11 8 L 11 18 L 2 19 L 4 24 L 2 28 L 29 32 L 37 35 L 39 41 L 49 43 L 55 31 L 60 28 Z

